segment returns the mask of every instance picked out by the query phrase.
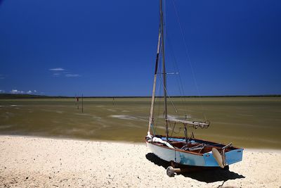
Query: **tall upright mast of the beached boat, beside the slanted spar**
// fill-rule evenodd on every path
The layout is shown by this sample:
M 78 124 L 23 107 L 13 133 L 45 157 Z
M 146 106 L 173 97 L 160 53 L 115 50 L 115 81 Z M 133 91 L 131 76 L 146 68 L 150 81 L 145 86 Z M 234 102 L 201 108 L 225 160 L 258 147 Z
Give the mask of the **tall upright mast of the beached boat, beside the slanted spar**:
M 168 142 L 168 115 L 166 108 L 166 68 L 165 68 L 165 46 L 164 46 L 164 21 L 163 21 L 163 7 L 162 0 L 160 0 L 160 21 L 161 21 L 161 34 L 162 34 L 162 69 L 163 69 L 163 87 L 164 87 L 164 115 L 165 115 L 165 123 L 166 123 L 166 141 Z

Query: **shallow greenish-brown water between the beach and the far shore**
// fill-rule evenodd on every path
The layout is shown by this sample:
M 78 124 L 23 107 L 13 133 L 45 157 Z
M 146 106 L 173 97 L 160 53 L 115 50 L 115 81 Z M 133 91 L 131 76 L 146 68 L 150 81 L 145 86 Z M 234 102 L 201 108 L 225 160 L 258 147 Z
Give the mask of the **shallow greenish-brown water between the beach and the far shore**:
M 236 146 L 281 149 L 281 98 L 186 98 L 169 102 L 169 114 L 211 121 L 195 137 Z M 155 105 L 155 131 L 164 134 L 162 99 Z M 0 134 L 143 142 L 150 99 L 1 99 Z M 174 125 L 171 125 L 173 127 Z M 176 125 L 175 132 L 181 125 Z M 191 131 L 191 130 L 190 130 Z M 170 130 L 171 132 L 171 130 Z M 176 134 L 174 135 L 182 135 Z

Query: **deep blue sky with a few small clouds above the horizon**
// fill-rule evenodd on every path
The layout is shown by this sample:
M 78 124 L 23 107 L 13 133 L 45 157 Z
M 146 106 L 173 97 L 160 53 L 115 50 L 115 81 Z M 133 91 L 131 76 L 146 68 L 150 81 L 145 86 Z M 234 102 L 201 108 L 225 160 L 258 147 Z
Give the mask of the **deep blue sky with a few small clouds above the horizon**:
M 199 92 L 172 0 L 167 72 L 174 51 L 186 95 L 281 94 L 280 0 L 175 2 Z M 149 96 L 158 25 L 157 0 L 0 1 L 0 90 Z

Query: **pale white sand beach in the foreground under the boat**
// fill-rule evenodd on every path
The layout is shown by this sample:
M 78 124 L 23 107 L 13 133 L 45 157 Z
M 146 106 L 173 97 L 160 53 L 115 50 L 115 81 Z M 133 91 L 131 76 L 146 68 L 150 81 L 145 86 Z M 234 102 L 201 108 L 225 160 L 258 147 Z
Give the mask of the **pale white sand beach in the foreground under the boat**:
M 168 177 L 145 144 L 0 136 L 0 187 L 280 187 L 280 151 Z

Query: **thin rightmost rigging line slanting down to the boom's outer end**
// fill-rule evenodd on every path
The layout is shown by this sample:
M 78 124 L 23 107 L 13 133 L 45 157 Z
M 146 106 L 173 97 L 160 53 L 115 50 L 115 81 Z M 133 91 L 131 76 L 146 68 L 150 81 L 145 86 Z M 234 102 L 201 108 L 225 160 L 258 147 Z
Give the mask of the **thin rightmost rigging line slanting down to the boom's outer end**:
M 190 69 L 191 69 L 191 73 L 192 73 L 192 77 L 193 77 L 193 80 L 195 82 L 195 87 L 197 89 L 197 94 L 199 96 L 201 96 L 200 92 L 199 92 L 199 89 L 198 89 L 198 85 L 197 85 L 197 80 L 196 80 L 196 77 L 195 77 L 195 73 L 194 73 L 194 70 L 193 70 L 193 67 L 192 67 L 192 63 L 190 61 L 190 55 L 188 53 L 188 46 L 186 45 L 186 42 L 185 42 L 185 37 L 183 35 L 183 28 L 181 27 L 181 22 L 180 22 L 180 19 L 178 17 L 178 11 L 177 11 L 177 8 L 176 8 L 176 2 L 175 0 L 172 0 L 173 1 L 173 4 L 174 4 L 174 9 L 175 9 L 175 12 L 176 12 L 176 18 L 178 20 L 178 25 L 180 27 L 180 30 L 181 30 L 181 37 L 183 38 L 183 44 L 185 46 L 185 55 L 186 55 L 186 60 L 188 61 L 188 63 L 190 64 Z M 200 105 L 201 105 L 201 108 L 202 108 L 202 111 L 203 111 L 203 115 L 204 115 L 204 118 L 205 118 L 205 121 L 207 121 L 207 118 L 206 118 L 206 114 L 204 113 L 204 108 L 203 108 L 203 105 L 202 105 L 202 100 L 201 100 L 201 97 L 200 97 Z

